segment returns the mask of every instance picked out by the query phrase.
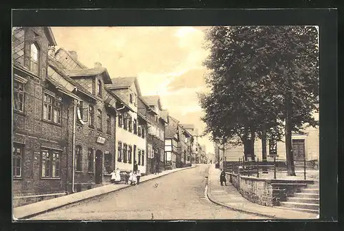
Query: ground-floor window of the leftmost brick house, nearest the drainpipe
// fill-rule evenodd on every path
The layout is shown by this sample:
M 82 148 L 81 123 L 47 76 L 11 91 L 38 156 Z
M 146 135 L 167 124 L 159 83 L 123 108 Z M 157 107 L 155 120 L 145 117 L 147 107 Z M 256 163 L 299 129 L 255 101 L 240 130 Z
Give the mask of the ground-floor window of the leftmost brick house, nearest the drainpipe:
M 42 177 L 60 177 L 60 153 L 42 150 Z

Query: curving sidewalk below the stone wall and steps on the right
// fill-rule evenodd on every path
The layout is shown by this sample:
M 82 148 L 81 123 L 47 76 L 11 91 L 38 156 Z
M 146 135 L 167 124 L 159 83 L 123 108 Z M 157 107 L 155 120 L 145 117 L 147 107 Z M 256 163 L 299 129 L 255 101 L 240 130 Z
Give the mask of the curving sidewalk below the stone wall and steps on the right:
M 208 198 L 213 203 L 230 208 L 239 212 L 255 214 L 261 219 L 317 219 L 317 214 L 307 212 L 297 212 L 277 207 L 261 206 L 248 201 L 237 191 L 237 189 L 227 182 L 227 186 L 219 183 L 220 170 L 212 164 L 208 175 Z

